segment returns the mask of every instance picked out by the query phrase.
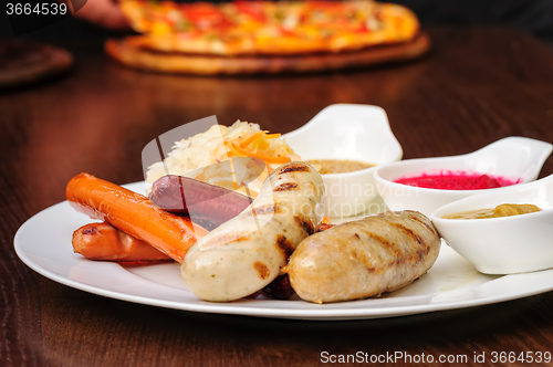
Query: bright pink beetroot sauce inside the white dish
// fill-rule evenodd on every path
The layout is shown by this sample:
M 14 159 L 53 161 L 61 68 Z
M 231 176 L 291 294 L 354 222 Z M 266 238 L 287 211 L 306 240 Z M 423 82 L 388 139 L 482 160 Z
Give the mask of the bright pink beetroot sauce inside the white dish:
M 417 176 L 404 176 L 394 180 L 394 182 L 439 190 L 482 190 L 511 186 L 520 184 L 522 180 L 477 172 L 448 170 L 439 174 L 422 172 Z

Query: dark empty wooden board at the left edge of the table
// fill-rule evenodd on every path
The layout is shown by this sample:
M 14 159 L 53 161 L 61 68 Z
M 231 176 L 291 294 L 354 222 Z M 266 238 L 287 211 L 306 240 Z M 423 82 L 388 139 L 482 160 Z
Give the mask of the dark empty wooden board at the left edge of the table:
M 0 40 L 0 90 L 43 81 L 67 71 L 70 52 L 24 40 Z

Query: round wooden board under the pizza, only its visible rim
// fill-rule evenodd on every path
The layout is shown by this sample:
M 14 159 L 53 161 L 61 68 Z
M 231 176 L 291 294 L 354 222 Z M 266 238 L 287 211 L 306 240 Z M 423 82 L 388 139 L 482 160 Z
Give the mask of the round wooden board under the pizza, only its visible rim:
M 419 33 L 413 41 L 372 46 L 344 53 L 313 53 L 292 56 L 211 56 L 153 52 L 123 40 L 108 40 L 106 53 L 125 66 L 171 74 L 247 75 L 304 73 L 361 67 L 413 60 L 430 50 L 430 38 Z

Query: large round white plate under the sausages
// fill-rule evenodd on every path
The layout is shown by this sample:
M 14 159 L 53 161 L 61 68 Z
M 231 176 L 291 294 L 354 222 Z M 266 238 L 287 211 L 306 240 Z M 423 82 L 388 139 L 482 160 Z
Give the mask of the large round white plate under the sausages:
M 129 189 L 143 191 L 144 182 Z M 491 304 L 553 290 L 553 270 L 484 275 L 447 245 L 436 264 L 411 285 L 363 301 L 316 305 L 299 298 L 262 296 L 232 303 L 198 300 L 179 277 L 176 263 L 124 268 L 73 253 L 71 235 L 91 222 L 66 201 L 29 219 L 15 234 L 15 252 L 38 273 L 77 290 L 147 305 L 194 312 L 305 319 L 362 319 L 411 315 Z

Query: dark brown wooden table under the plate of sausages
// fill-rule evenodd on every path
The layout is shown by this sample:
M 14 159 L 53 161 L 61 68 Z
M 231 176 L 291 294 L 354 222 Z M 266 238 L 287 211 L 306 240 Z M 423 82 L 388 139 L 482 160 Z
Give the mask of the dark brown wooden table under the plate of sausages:
M 0 95 L 0 365 L 314 366 L 322 352 L 362 350 L 469 363 L 486 353 L 483 366 L 492 352 L 553 352 L 553 292 L 388 319 L 280 321 L 97 296 L 36 274 L 13 251 L 17 229 L 64 200 L 72 176 L 142 180 L 146 143 L 213 114 L 221 124 L 240 118 L 285 133 L 328 104 L 378 105 L 405 158 L 469 153 L 511 135 L 553 143 L 551 46 L 502 27 L 429 32 L 435 50 L 418 62 L 247 78 L 138 73 L 109 62 L 98 39 L 51 40 L 75 53 L 73 73 Z M 553 158 L 541 177 L 551 174 Z

